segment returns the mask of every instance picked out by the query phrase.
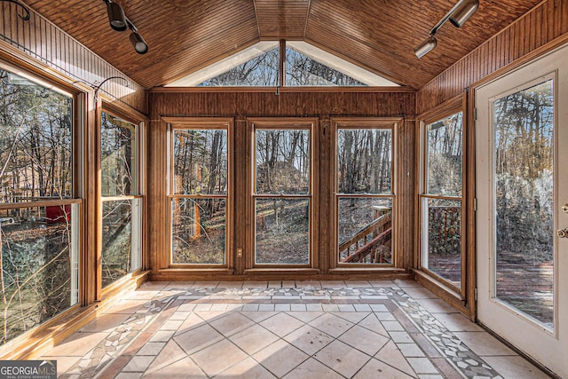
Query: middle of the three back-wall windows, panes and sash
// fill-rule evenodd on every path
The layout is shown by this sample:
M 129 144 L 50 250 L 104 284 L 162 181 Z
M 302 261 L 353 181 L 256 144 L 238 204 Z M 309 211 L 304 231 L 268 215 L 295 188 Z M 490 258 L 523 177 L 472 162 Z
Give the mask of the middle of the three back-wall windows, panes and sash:
M 254 265 L 312 263 L 315 122 L 252 120 Z

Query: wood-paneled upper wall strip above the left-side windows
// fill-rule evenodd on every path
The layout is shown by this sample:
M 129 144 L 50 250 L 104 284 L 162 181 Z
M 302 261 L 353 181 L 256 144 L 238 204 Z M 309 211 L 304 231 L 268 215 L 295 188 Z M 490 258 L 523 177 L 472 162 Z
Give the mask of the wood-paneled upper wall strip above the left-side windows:
M 100 88 L 100 92 L 146 113 L 146 93 L 137 83 L 40 14 L 30 10 L 27 21 L 21 20 L 19 14 L 23 11 L 15 4 L 0 3 L 0 41 L 67 76 L 71 82 L 96 87 L 106 78 L 122 76 L 128 80 L 128 85 L 122 80 L 110 80 Z

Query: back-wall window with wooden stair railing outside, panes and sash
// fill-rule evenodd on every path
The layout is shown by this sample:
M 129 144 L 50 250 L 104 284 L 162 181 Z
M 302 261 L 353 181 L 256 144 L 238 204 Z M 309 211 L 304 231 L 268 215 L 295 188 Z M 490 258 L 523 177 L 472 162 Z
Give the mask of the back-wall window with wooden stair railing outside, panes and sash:
M 395 122 L 335 119 L 337 265 L 392 265 Z

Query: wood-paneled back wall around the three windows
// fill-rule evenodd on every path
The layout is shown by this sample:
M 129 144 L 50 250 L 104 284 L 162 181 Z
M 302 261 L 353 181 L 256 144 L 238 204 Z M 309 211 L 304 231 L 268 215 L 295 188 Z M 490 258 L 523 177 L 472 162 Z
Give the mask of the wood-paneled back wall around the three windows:
M 250 225 L 245 224 L 246 215 L 247 159 L 245 155 L 249 143 L 247 137 L 247 117 L 318 117 L 319 118 L 319 268 L 327 273 L 329 257 L 334 242 L 330 241 L 330 215 L 333 214 L 331 199 L 332 183 L 330 163 L 333 153 L 330 117 L 331 116 L 373 116 L 402 117 L 404 122 L 398 128 L 398 217 L 402 223 L 398 264 L 406 269 L 412 267 L 414 254 L 414 91 L 151 91 L 149 93 L 150 128 L 148 148 L 148 252 L 154 275 L 168 265 L 168 209 L 166 202 L 166 181 L 168 170 L 167 130 L 162 117 L 166 116 L 229 116 L 233 117 L 235 149 L 235 247 L 246 245 L 245 236 Z M 242 216 L 241 219 L 239 218 Z M 326 232 L 328 231 L 328 232 Z M 327 238 L 327 237 L 329 238 Z M 328 254 L 329 253 L 329 254 Z M 236 260 L 234 272 L 244 272 L 243 260 Z M 159 276 L 158 276 L 159 277 Z M 219 278 L 219 276 L 217 276 Z

